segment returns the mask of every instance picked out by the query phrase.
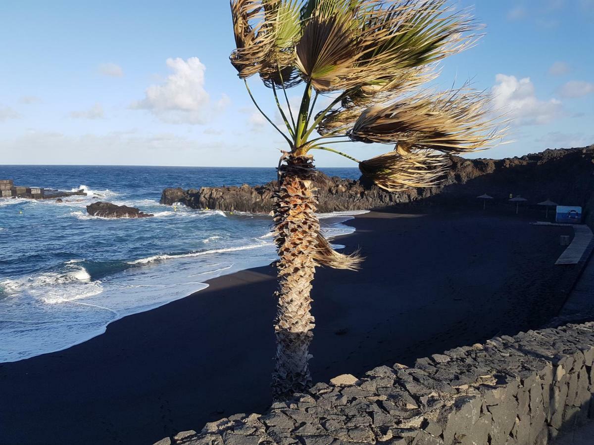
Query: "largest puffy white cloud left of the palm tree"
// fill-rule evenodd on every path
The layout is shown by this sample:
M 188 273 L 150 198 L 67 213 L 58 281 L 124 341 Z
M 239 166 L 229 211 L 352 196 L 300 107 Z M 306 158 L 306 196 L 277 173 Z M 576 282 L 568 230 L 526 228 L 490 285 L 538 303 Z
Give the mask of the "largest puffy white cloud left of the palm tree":
M 197 57 L 167 59 L 166 63 L 173 74 L 162 84 L 147 88 L 144 99 L 132 103 L 132 108 L 149 110 L 164 122 L 203 124 L 230 103 L 226 94 L 211 103 L 204 88 L 206 66 Z

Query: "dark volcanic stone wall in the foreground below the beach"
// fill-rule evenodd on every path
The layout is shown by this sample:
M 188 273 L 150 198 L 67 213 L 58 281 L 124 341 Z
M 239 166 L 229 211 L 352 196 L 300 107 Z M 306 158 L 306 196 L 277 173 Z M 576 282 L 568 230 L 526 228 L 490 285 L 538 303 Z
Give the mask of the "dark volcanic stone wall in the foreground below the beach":
M 544 445 L 594 414 L 594 323 L 502 336 L 318 383 L 169 444 Z

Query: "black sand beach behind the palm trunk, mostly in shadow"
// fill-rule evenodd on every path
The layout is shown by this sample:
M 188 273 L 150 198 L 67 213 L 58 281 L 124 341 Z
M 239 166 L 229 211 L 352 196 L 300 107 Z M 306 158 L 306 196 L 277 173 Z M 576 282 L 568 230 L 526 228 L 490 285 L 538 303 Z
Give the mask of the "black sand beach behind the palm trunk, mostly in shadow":
M 361 375 L 558 313 L 565 227 L 516 215 L 371 212 L 350 221 L 360 272 L 320 269 L 311 361 L 315 381 Z M 65 351 L 0 364 L 0 443 L 150 444 L 270 400 L 273 269 L 125 317 Z M 567 290 L 567 289 L 565 289 Z

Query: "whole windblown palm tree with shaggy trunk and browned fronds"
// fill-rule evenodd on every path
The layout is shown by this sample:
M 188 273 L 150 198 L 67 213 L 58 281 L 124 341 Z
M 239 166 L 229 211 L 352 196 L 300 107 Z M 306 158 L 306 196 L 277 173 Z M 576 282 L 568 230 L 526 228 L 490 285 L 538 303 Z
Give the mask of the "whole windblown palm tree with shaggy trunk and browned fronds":
M 476 41 L 477 26 L 467 12 L 454 11 L 446 1 L 230 2 L 236 41 L 231 63 L 257 109 L 287 143 L 274 205 L 276 400 L 311 384 L 315 268 L 354 270 L 362 261 L 334 251 L 320 231 L 312 150 L 345 156 L 378 186 L 399 191 L 438 185 L 448 154 L 483 150 L 503 135 L 497 119 L 489 117 L 488 97 L 469 85 L 446 92 L 422 88 L 437 77 L 438 61 Z M 256 74 L 272 91 L 278 125 L 249 89 L 247 79 Z M 296 87 L 302 99 L 292 109 L 287 90 Z M 331 148 L 353 141 L 394 149 L 359 161 Z

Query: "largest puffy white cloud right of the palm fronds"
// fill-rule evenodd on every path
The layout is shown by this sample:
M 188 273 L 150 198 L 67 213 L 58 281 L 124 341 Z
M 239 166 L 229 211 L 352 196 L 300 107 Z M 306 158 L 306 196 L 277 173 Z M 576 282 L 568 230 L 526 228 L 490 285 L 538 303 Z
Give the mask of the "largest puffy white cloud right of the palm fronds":
M 536 97 L 529 77 L 518 80 L 515 76 L 498 74 L 495 81 L 491 88 L 495 107 L 508 112 L 516 125 L 549 123 L 563 112 L 561 101 Z

